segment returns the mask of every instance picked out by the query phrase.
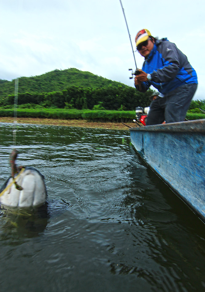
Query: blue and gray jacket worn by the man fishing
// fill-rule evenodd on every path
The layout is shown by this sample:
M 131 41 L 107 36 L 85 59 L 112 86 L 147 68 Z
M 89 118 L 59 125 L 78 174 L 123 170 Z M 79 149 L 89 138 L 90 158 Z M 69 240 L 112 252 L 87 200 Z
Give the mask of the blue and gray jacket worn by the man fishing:
M 156 40 L 152 51 L 145 59 L 142 70 L 151 74 L 151 81 L 142 82 L 145 92 L 151 85 L 163 95 L 185 83 L 198 83 L 196 71 L 187 56 L 167 38 Z

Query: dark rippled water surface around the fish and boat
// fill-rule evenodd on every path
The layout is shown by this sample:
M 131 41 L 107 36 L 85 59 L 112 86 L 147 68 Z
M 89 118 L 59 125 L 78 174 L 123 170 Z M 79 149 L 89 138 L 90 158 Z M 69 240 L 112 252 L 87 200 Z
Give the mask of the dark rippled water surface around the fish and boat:
M 0 184 L 12 124 L 0 123 Z M 143 163 L 128 131 L 18 125 L 18 164 L 48 204 L 0 212 L 1 291 L 205 291 L 205 225 Z

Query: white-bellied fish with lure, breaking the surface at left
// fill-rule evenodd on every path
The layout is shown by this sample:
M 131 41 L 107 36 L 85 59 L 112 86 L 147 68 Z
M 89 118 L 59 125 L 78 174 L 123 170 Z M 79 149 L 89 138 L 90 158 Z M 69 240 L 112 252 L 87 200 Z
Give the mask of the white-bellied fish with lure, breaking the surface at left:
M 33 167 L 15 164 L 17 151 L 10 156 L 11 177 L 0 189 L 0 205 L 7 207 L 38 207 L 46 201 L 46 185 L 42 174 Z

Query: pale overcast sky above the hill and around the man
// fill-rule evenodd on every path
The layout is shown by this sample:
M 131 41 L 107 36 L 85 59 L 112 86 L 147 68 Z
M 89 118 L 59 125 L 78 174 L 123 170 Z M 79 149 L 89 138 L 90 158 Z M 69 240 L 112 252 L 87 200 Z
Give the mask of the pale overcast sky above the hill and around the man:
M 122 0 L 135 51 L 143 28 L 167 39 L 198 75 L 194 99 L 205 99 L 203 1 Z M 134 86 L 131 43 L 119 0 L 1 0 L 0 79 L 77 68 Z M 144 58 L 135 52 L 137 66 Z

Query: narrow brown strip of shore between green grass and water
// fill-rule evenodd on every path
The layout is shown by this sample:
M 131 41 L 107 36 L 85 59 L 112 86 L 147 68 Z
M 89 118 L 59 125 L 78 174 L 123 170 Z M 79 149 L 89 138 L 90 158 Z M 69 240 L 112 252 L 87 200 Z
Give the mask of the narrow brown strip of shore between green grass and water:
M 13 117 L 0 117 L 0 123 L 13 123 Z M 115 129 L 115 130 L 129 130 L 128 127 L 122 123 L 110 122 L 88 122 L 86 120 L 57 120 L 57 119 L 39 119 L 39 118 L 17 118 L 20 124 L 38 124 L 38 125 L 54 125 L 66 127 L 83 127 L 96 129 Z M 130 127 L 135 127 L 134 123 L 126 123 Z

